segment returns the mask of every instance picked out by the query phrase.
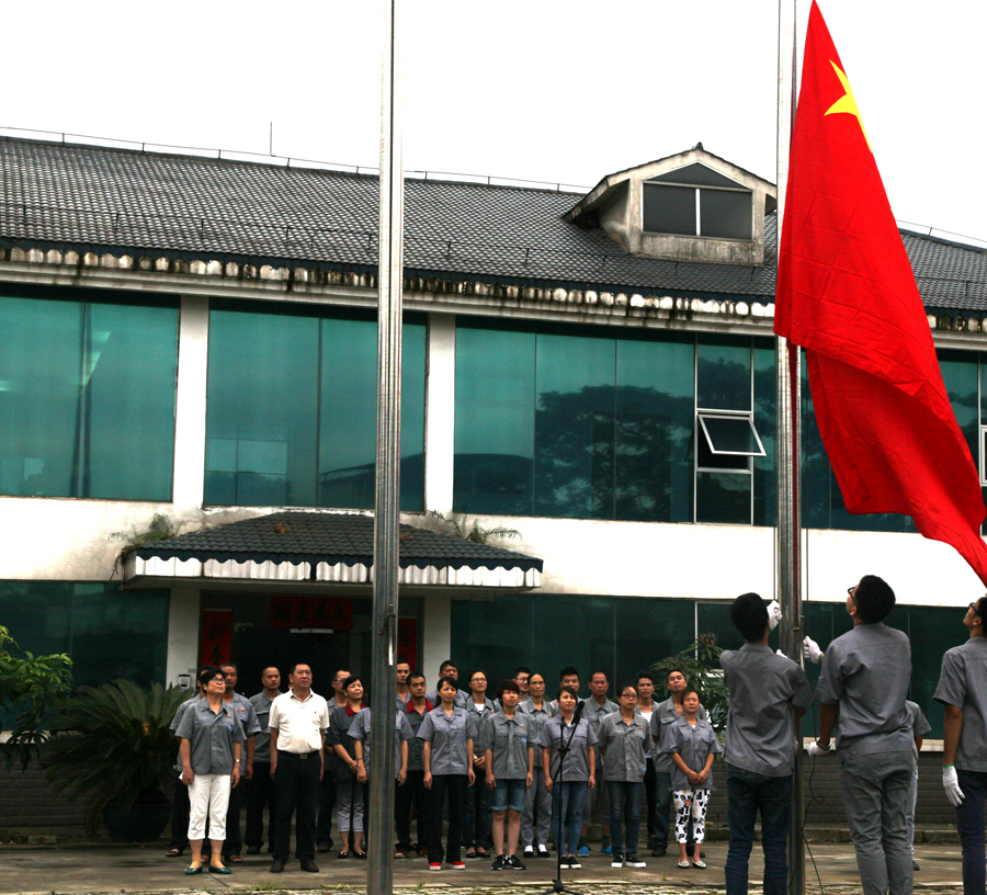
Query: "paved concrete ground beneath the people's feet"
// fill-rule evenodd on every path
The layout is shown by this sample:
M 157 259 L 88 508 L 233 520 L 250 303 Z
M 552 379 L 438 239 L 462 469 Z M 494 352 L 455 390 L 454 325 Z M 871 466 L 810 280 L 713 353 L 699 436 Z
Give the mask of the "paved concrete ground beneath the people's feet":
M 318 874 L 305 873 L 292 861 L 285 872 L 273 875 L 268 856 L 245 857 L 243 863 L 234 868 L 230 876 L 201 874 L 184 876 L 185 858 L 166 859 L 164 845 L 128 846 L 120 848 L 82 847 L 0 847 L 0 895 L 12 893 L 56 893 L 81 895 L 102 892 L 325 892 L 328 888 L 360 891 L 366 884 L 366 862 L 349 859 L 340 861 L 334 853 L 317 856 L 321 869 Z M 808 895 L 851 895 L 860 892 L 860 881 L 853 847 L 848 842 L 814 843 L 812 858 L 806 856 L 806 893 Z M 610 859 L 593 854 L 582 859 L 582 870 L 565 874 L 565 883 L 582 895 L 665 895 L 682 888 L 693 893 L 705 890 L 715 892 L 724 885 L 723 865 L 727 854 L 726 842 L 707 842 L 706 870 L 680 870 L 677 857 L 645 857 L 643 870 L 615 870 Z M 751 858 L 751 891 L 760 887 L 762 862 L 760 848 L 756 846 Z M 916 888 L 928 887 L 943 895 L 962 892 L 960 874 L 960 847 L 953 843 L 921 845 L 916 847 L 916 860 L 921 870 L 915 874 Z M 413 892 L 423 886 L 439 887 L 453 893 L 469 895 L 489 892 L 490 895 L 523 887 L 525 893 L 538 893 L 552 887 L 555 861 L 534 859 L 527 862 L 525 872 L 490 870 L 489 861 L 473 860 L 465 871 L 442 870 L 430 872 L 424 859 L 394 861 L 395 887 Z M 818 870 L 818 876 L 816 876 Z M 821 880 L 821 890 L 819 880 Z

